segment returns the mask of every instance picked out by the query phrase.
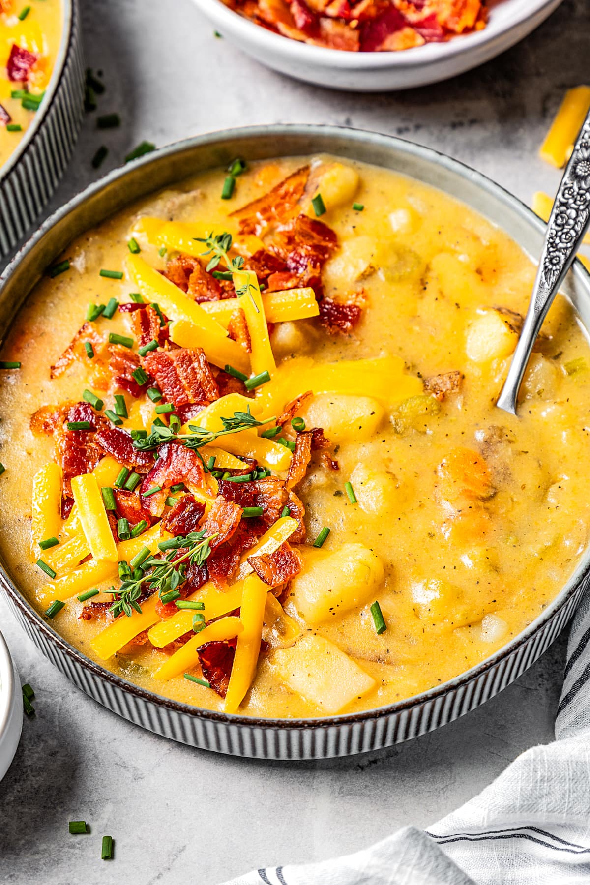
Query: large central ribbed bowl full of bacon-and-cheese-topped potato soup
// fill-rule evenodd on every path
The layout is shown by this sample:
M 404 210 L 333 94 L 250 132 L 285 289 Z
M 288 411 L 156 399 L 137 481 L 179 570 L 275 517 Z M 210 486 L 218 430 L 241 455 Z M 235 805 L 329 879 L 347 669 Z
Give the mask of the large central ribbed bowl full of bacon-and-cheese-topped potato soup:
M 0 577 L 80 688 L 259 758 L 406 740 L 586 584 L 590 277 L 495 407 L 543 225 L 336 127 L 201 136 L 49 219 L 0 289 Z

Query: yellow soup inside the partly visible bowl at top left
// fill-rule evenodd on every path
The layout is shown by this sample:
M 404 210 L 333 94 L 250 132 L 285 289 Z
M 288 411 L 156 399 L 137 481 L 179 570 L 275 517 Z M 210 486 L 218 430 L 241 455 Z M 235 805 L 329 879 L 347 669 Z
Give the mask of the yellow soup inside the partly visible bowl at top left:
M 0 3 L 0 165 L 34 122 L 61 35 L 61 0 Z

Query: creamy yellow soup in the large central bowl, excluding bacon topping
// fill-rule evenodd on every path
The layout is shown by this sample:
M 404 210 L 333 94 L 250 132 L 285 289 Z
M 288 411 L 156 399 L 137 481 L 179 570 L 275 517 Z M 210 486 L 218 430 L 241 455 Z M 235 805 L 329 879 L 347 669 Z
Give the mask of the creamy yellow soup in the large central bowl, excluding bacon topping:
M 124 304 L 131 292 L 139 291 L 147 301 L 157 300 L 154 292 L 159 292 L 158 303 L 173 320 L 172 341 L 183 347 L 199 342 L 210 362 L 223 367 L 225 350 L 220 356 L 215 347 L 226 341 L 225 329 L 218 339 L 217 331 L 199 324 L 206 315 L 208 321 L 217 318 L 220 326 L 227 325 L 224 302 L 195 308 L 182 289 L 160 273 L 149 273 L 164 272 L 179 252 L 192 251 L 203 268 L 211 254 L 198 258 L 204 247 L 194 237 L 206 232 L 234 235 L 236 250 L 230 254 L 241 254 L 246 264 L 257 250 L 272 250 L 281 225 L 288 227 L 289 222 L 271 219 L 265 224 L 263 219 L 256 227 L 262 216 L 254 207 L 256 229 L 248 232 L 243 219 L 252 212 L 232 213 L 306 165 L 310 169 L 303 175 L 303 192 L 291 218 L 303 215 L 333 232 L 321 269 L 323 297 L 355 304 L 358 311 L 348 330 L 329 330 L 320 321 L 326 318 L 326 304 L 310 305 L 309 286 L 290 294 L 284 289 L 281 306 L 268 291 L 272 285 L 260 296 L 257 276 L 250 276 L 254 286 L 247 286 L 242 296 L 248 299 L 251 292 L 250 303 L 240 303 L 246 305 L 252 352 L 246 354 L 240 343 L 228 346 L 246 366 L 244 376 L 260 373 L 265 365 L 270 368 L 270 381 L 255 387 L 249 400 L 252 413 L 266 423 L 214 443 L 218 464 L 233 464 L 231 458 L 256 450 L 262 453 L 258 463 L 263 458 L 271 475 L 284 481 L 298 433 L 303 427 L 323 428 L 329 445 L 314 451 L 293 489 L 305 509 L 306 539 L 291 545 L 301 570 L 286 586 L 269 589 L 264 618 L 262 610 L 257 613 L 256 595 L 264 596 L 266 589 L 260 590 L 259 579 L 249 584 L 248 602 L 246 590 L 242 595 L 241 584 L 234 584 L 248 569 L 252 573 L 248 551 L 228 586 L 206 585 L 189 597 L 205 599 L 207 629 L 210 619 L 223 615 L 217 624 L 225 627 L 216 629 L 228 635 L 235 631 L 242 681 L 248 669 L 243 661 L 254 661 L 241 689 L 245 696 L 232 712 L 264 717 L 371 709 L 438 686 L 478 664 L 555 598 L 585 549 L 590 518 L 590 352 L 563 297 L 557 298 L 533 353 L 518 418 L 494 407 L 517 342 L 518 314 L 525 312 L 533 285 L 533 264 L 517 244 L 449 196 L 384 169 L 330 157 L 252 163 L 235 176 L 228 199 L 221 199 L 226 170 L 203 173 L 81 236 L 62 256 L 69 269 L 46 276 L 19 312 L 2 352 L 3 360 L 22 366 L 4 370 L 0 378 L 5 466 L 0 550 L 31 603 L 45 612 L 52 600 L 64 601 L 52 626 L 113 673 L 175 700 L 227 709 L 217 691 L 184 675 L 207 681 L 200 658 L 188 654 L 188 643 L 199 637 L 188 620 L 195 610 L 182 616 L 188 638 L 163 627 L 165 620 L 153 614 L 150 618 L 147 609 L 142 616 L 122 614 L 114 627 L 104 613 L 80 620 L 85 606 L 112 598 L 101 593 L 89 602 L 78 600 L 95 583 L 101 590 L 119 586 L 116 563 L 105 566 L 105 577 L 99 562 L 96 581 L 90 577 L 82 582 L 74 573 L 88 564 L 94 567 L 92 558 L 57 567 L 53 580 L 35 566 L 37 558 L 56 563 L 56 551 L 74 535 L 82 545 L 81 558 L 88 527 L 80 534 L 72 517 L 65 523 L 57 519 L 55 503 L 49 517 L 34 515 L 34 474 L 51 464 L 55 453 L 53 436 L 33 434 L 30 419 L 42 406 L 79 401 L 91 387 L 92 366 L 83 355 L 53 380 L 50 365 L 82 326 L 88 304 L 108 304 L 113 297 Z M 227 193 L 227 184 L 225 188 Z M 281 199 L 285 194 L 283 188 Z M 122 279 L 101 276 L 101 269 L 123 273 Z M 228 275 L 223 261 L 219 270 Z M 234 277 L 234 282 L 239 280 Z M 320 299 L 318 281 L 314 285 L 311 299 Z M 318 310 L 319 318 L 312 315 Z M 274 318 L 268 341 L 264 335 L 255 337 L 264 312 Z M 303 319 L 296 319 L 299 315 Z M 130 316 L 119 310 L 112 319 L 99 316 L 92 325 L 102 339 L 111 332 L 128 336 Z M 137 346 L 134 341 L 134 352 Z M 162 350 L 168 352 L 170 346 Z M 145 366 L 149 356 L 142 358 Z M 96 389 L 104 409 L 111 411 L 113 390 Z M 267 419 L 276 418 L 308 390 L 313 396 L 290 413 L 294 420 L 287 419 L 283 427 L 283 443 L 277 442 L 279 436 L 262 435 L 275 426 Z M 121 427 L 149 432 L 157 417 L 155 404 L 145 394 L 134 400 L 125 391 L 117 393 L 125 395 L 129 415 L 121 419 Z M 219 415 L 227 412 L 233 414 L 234 407 L 213 403 L 206 414 L 217 414 L 217 419 L 207 424 L 202 418 L 201 426 L 220 428 Z M 160 418 L 168 420 L 165 413 Z M 199 426 L 199 420 L 197 415 L 188 424 Z M 105 458 L 96 467 L 98 485 L 113 486 L 118 470 Z M 214 485 L 210 475 L 195 495 L 209 500 Z M 169 512 L 169 504 L 162 507 Z M 280 519 L 288 527 L 292 516 L 287 511 Z M 143 537 L 150 532 L 156 542 L 168 537 L 157 526 L 156 521 L 156 528 Z M 43 531 L 57 535 L 60 543 L 40 550 Z M 132 545 L 126 548 L 119 544 L 117 558 L 122 550 L 130 556 L 141 540 L 142 535 L 136 542 L 124 542 Z M 111 542 L 107 538 L 104 543 Z M 220 593 L 234 599 L 225 611 Z M 112 640 L 115 627 L 123 631 L 120 644 L 134 636 L 129 625 L 140 623 L 142 630 L 148 629 L 143 644 L 119 647 L 117 637 Z M 254 658 L 244 638 L 248 631 Z M 111 645 L 105 644 L 105 635 Z M 177 641 L 162 648 L 163 637 Z M 107 653 L 113 648 L 114 653 Z M 178 666 L 171 666 L 180 648 L 186 652 L 185 666 L 181 658 L 175 658 Z M 236 652 L 234 667 L 237 660 Z M 163 678 L 166 673 L 172 675 Z

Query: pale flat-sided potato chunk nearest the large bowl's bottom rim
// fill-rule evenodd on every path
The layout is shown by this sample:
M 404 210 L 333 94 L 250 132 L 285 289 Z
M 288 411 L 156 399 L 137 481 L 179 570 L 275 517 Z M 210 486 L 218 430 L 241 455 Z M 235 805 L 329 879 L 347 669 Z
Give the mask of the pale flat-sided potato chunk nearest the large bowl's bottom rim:
M 375 687 L 372 676 L 322 636 L 303 636 L 290 649 L 276 650 L 271 663 L 289 689 L 323 713 L 340 712 Z

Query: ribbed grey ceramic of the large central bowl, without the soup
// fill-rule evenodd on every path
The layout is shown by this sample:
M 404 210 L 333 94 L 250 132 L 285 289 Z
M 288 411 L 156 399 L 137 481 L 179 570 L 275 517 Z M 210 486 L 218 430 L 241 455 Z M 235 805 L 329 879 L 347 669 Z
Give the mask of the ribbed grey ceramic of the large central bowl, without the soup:
M 0 334 L 42 269 L 73 237 L 130 201 L 173 185 L 189 173 L 227 165 L 235 157 L 262 159 L 330 152 L 383 166 L 433 185 L 502 227 L 532 255 L 540 253 L 544 225 L 515 197 L 455 160 L 410 142 L 337 127 L 259 127 L 202 135 L 151 154 L 76 196 L 20 250 L 0 279 Z M 590 329 L 590 275 L 576 263 L 564 292 Z M 405 741 L 455 720 L 523 673 L 570 619 L 588 583 L 590 551 L 571 581 L 540 617 L 502 650 L 444 685 L 399 704 L 309 720 L 260 720 L 201 710 L 137 688 L 88 660 L 57 635 L 28 604 L 5 567 L 0 585 L 33 642 L 80 689 L 137 725 L 207 750 L 272 759 L 345 756 Z M 4 566 L 4 564 L 3 564 Z

